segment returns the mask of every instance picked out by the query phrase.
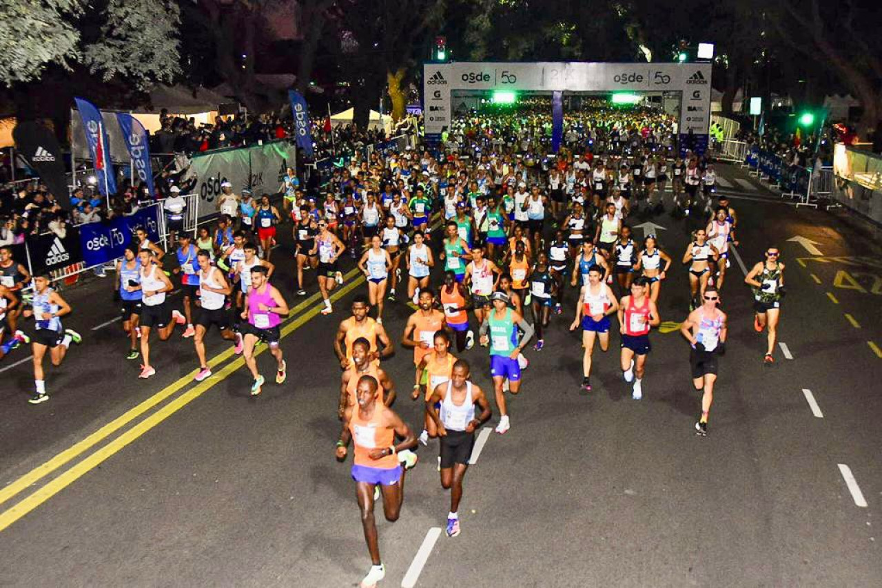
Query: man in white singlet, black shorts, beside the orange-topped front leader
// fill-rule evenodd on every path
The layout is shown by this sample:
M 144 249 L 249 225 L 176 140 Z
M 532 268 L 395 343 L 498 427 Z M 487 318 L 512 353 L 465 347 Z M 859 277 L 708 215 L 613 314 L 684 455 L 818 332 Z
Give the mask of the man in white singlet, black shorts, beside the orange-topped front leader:
M 462 480 L 475 446 L 475 429 L 490 421 L 491 416 L 487 397 L 480 387 L 468 380 L 468 376 L 468 362 L 457 360 L 450 379 L 435 386 L 426 398 L 426 413 L 441 439 L 441 487 L 451 491 L 448 537 L 460 534 Z M 475 405 L 481 408 L 477 416 Z

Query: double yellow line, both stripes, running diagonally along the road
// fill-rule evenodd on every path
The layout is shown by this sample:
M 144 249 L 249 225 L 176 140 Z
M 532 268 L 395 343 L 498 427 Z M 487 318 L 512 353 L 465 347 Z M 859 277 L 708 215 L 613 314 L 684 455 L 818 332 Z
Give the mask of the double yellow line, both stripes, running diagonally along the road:
M 348 281 L 358 274 L 358 277 L 353 279 L 352 281 Z M 341 297 L 348 294 L 353 288 L 359 286 L 364 282 L 364 276 L 361 275 L 362 272 L 357 268 L 348 272 L 344 277 L 344 286 L 340 287 L 332 296 L 332 301 L 337 301 Z M 310 307 L 311 304 L 318 301 L 320 294 L 312 294 L 305 301 L 301 302 L 294 309 L 291 309 L 291 313 L 286 319 L 284 326 L 281 329 L 281 338 L 287 337 L 292 332 L 296 331 L 303 324 L 309 322 L 314 316 L 318 315 L 321 309 L 324 307 L 324 304 L 319 301 L 318 304 L 312 306 L 306 312 L 304 312 L 300 316 L 295 316 L 301 310 Z M 265 351 L 266 347 L 261 346 L 256 350 L 255 354 L 261 354 Z M 215 355 L 210 361 L 208 361 L 208 366 L 210 368 L 214 368 L 215 366 L 221 364 L 223 361 L 227 361 L 230 356 L 234 354 L 234 350 L 232 347 L 229 347 L 227 350 L 221 352 L 220 354 Z M 50 480 L 48 483 L 43 485 L 41 488 L 37 489 L 33 494 L 26 496 L 20 502 L 17 502 L 11 508 L 4 510 L 3 513 L 0 513 L 0 532 L 2 532 L 6 527 L 12 525 L 19 518 L 24 517 L 31 510 L 36 509 L 43 502 L 46 502 L 52 496 L 61 492 L 64 488 L 67 488 L 74 481 L 78 480 L 83 474 L 92 470 L 95 466 L 101 465 L 104 460 L 114 455 L 117 451 L 122 450 L 123 447 L 128 445 L 129 443 L 135 441 L 141 435 L 144 435 L 147 431 L 160 424 L 162 421 L 168 419 L 169 416 L 176 413 L 178 410 L 183 408 L 183 406 L 187 406 L 191 401 L 199 398 L 206 391 L 211 389 L 215 384 L 220 383 L 222 380 L 226 379 L 230 376 L 235 370 L 242 368 L 245 365 L 245 360 L 243 357 L 238 357 L 235 361 L 230 361 L 226 366 L 221 368 L 221 371 L 217 372 L 206 381 L 198 383 L 193 386 L 190 390 L 184 392 L 182 395 L 178 396 L 167 405 L 162 406 L 161 409 L 152 413 L 143 421 L 138 422 L 136 425 L 125 431 L 122 435 L 119 435 L 99 450 L 93 451 L 93 453 L 89 454 L 86 458 L 79 461 L 77 464 L 71 466 L 71 468 L 64 471 L 58 475 L 55 479 Z M 125 425 L 129 424 L 131 421 L 138 419 L 142 414 L 146 413 L 154 406 L 159 405 L 163 400 L 171 397 L 177 391 L 183 389 L 187 384 L 193 382 L 193 376 L 196 376 L 198 370 L 193 370 L 186 376 L 182 376 L 175 383 L 169 384 L 167 387 L 163 388 L 161 391 L 153 394 L 150 398 L 147 398 L 138 406 L 131 408 L 126 413 L 123 413 L 113 421 L 108 422 L 107 425 L 99 428 L 93 434 L 88 435 L 82 441 L 78 443 L 74 443 L 70 448 L 62 451 L 57 454 L 54 458 L 49 459 L 46 463 L 35 467 L 30 472 L 26 473 L 18 480 L 15 480 L 11 484 L 5 486 L 0 489 L 0 504 L 7 502 L 12 497 L 19 495 L 22 491 L 26 490 L 26 488 L 30 488 L 36 482 L 42 480 L 50 473 L 55 472 L 57 469 L 62 466 L 68 464 L 73 459 L 78 458 L 78 456 L 85 453 L 87 450 L 92 449 L 98 443 L 101 443 L 108 436 L 113 435 L 119 429 L 123 428 Z

